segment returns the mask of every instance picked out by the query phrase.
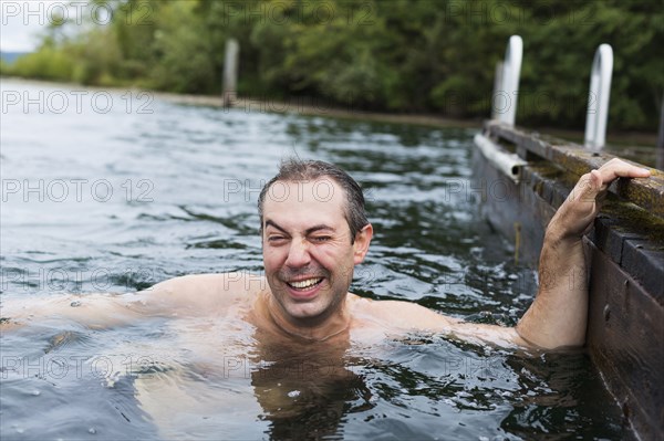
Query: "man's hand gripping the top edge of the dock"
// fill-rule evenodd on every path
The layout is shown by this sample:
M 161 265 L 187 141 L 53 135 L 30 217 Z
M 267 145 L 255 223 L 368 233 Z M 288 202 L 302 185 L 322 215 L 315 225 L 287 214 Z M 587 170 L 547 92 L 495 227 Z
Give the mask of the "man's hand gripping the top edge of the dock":
M 609 185 L 618 178 L 647 178 L 650 171 L 618 158 L 579 179 L 549 223 L 548 233 L 559 239 L 580 239 L 592 227 Z

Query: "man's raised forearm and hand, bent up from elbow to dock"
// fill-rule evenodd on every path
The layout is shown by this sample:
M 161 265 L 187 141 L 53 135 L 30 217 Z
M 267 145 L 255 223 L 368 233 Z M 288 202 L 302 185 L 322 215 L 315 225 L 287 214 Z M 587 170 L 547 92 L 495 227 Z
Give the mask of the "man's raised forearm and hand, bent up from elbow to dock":
M 539 291 L 516 327 L 521 338 L 547 349 L 585 343 L 588 269 L 583 233 L 592 225 L 599 200 L 613 180 L 649 176 L 649 170 L 612 159 L 581 177 L 547 227 Z

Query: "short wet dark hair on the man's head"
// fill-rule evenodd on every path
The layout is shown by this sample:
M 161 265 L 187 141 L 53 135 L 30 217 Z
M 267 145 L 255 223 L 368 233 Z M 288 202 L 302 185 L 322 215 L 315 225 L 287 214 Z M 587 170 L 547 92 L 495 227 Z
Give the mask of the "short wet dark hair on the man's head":
M 351 243 L 355 242 L 355 235 L 369 224 L 364 211 L 364 195 L 362 188 L 351 178 L 349 174 L 333 164 L 322 160 L 286 159 L 281 161 L 279 172 L 260 191 L 258 197 L 258 216 L 260 217 L 260 230 L 263 228 L 263 203 L 270 187 L 277 181 L 312 181 L 329 177 L 333 179 L 344 191 L 346 197 L 344 218 L 351 229 Z

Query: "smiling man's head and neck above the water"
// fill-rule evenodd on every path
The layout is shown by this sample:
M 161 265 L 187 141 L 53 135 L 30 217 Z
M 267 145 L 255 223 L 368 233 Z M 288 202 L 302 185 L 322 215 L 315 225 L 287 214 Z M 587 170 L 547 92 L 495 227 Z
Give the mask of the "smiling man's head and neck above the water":
M 353 269 L 373 234 L 360 186 L 330 164 L 289 161 L 266 185 L 258 207 L 274 323 L 312 339 L 346 329 Z

